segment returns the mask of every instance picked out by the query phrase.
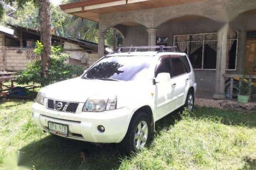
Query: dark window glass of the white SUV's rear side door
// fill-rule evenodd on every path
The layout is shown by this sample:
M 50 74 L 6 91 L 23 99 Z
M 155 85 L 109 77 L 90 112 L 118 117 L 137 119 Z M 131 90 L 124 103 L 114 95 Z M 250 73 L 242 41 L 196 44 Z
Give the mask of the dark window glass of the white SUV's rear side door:
M 180 55 L 172 55 L 171 60 L 172 60 L 172 77 L 179 76 L 187 72 L 187 68 L 185 67 L 185 64 L 182 62 Z

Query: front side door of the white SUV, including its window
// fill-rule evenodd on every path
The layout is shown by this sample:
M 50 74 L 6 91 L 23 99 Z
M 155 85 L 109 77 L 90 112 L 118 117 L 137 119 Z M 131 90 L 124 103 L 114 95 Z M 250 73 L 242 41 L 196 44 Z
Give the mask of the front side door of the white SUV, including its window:
M 159 59 L 159 63 L 155 70 L 155 77 L 159 73 L 166 72 L 171 74 L 170 56 L 166 55 Z M 171 76 L 171 75 L 170 75 Z M 156 83 L 156 120 L 175 110 L 174 91 L 172 91 L 172 79 L 170 81 Z

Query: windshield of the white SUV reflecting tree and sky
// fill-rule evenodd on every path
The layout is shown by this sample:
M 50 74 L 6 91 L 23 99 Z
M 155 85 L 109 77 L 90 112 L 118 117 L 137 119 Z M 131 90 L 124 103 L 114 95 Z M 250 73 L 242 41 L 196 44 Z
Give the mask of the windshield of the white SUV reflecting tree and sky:
M 82 77 L 109 81 L 151 79 L 156 60 L 153 56 L 109 56 L 100 60 Z

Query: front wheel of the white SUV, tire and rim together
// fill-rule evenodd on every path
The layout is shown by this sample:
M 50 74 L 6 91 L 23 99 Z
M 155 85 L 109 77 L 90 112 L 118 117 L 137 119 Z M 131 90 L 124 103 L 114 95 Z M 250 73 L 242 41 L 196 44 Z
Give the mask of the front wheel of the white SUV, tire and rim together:
M 120 146 L 126 153 L 137 152 L 149 143 L 150 137 L 150 118 L 146 113 L 138 112 L 132 117 Z

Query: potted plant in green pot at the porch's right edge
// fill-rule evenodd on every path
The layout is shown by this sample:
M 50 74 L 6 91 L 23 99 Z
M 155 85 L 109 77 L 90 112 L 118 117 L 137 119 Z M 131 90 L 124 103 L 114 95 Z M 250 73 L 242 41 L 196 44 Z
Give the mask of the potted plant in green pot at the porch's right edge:
M 243 80 L 241 85 L 238 87 L 238 102 L 239 103 L 248 103 L 250 98 L 250 89 L 249 84 L 246 81 L 246 71 L 243 73 Z

